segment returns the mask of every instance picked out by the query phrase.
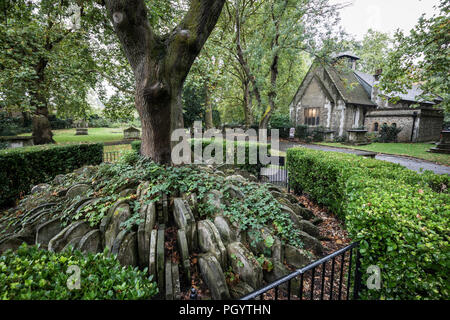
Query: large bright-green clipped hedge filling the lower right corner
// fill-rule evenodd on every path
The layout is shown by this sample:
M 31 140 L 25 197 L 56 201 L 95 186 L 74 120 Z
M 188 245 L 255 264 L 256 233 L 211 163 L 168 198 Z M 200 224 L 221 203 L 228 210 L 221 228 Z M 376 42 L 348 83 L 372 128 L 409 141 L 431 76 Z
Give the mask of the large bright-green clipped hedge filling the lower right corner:
M 345 220 L 361 243 L 363 284 L 381 268 L 367 299 L 449 298 L 449 177 L 355 155 L 289 149 L 291 187 Z

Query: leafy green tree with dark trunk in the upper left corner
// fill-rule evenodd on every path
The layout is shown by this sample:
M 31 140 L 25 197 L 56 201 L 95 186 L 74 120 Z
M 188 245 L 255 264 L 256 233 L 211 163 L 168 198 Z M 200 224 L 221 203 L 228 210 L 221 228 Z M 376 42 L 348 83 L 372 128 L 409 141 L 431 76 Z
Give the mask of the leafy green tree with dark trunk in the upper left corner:
M 51 143 L 50 112 L 84 115 L 97 77 L 73 1 L 1 3 L 0 107 L 33 116 L 35 144 Z M 77 20 L 79 21 L 79 20 Z

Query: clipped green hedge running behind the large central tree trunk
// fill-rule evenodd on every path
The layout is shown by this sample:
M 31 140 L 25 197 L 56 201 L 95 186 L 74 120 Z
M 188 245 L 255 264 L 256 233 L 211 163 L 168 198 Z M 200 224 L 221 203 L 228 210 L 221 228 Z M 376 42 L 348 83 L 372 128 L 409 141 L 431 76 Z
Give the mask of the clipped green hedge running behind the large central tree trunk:
M 191 150 L 192 150 L 192 152 L 194 152 L 194 145 L 196 143 L 201 143 L 202 144 L 202 150 L 204 150 L 211 143 L 222 144 L 223 145 L 223 161 L 225 162 L 225 160 L 226 160 L 226 145 L 228 143 L 230 143 L 229 141 L 227 141 L 227 140 L 217 140 L 217 141 L 215 141 L 214 139 L 202 139 L 202 140 L 191 139 L 191 148 L 192 148 Z M 248 141 L 246 141 L 246 142 L 234 141 L 234 150 L 237 150 L 236 149 L 237 146 L 240 146 L 240 145 L 244 145 L 245 146 L 245 164 L 240 164 L 240 165 L 236 164 L 236 166 L 241 168 L 241 169 L 243 169 L 243 170 L 249 171 L 249 172 L 251 172 L 251 173 L 253 173 L 255 175 L 258 175 L 259 170 L 260 170 L 261 167 L 263 167 L 263 165 L 259 162 L 259 157 L 257 158 L 257 161 L 258 161 L 257 164 L 250 164 L 249 163 L 250 162 L 249 161 L 249 150 L 250 150 L 250 145 L 251 144 L 252 144 L 252 142 L 248 142 Z M 262 145 L 266 145 L 267 146 L 267 152 L 270 151 L 270 147 L 271 147 L 270 144 L 258 143 L 258 148 L 260 148 Z M 141 148 L 141 141 L 133 141 L 131 143 L 131 148 L 133 150 L 135 150 L 136 152 L 139 152 L 139 150 Z M 214 152 L 212 153 L 212 156 L 214 156 Z M 237 162 L 236 156 L 237 155 L 235 153 L 235 158 L 234 158 L 234 162 L 235 163 Z

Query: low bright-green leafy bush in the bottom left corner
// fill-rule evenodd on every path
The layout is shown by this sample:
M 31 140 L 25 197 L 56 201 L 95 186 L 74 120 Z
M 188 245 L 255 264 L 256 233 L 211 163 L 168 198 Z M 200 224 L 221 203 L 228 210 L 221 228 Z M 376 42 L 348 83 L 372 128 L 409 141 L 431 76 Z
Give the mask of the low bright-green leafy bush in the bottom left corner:
M 80 289 L 69 290 L 69 266 L 80 268 Z M 83 255 L 80 251 L 53 253 L 22 245 L 0 256 L 0 299 L 94 300 L 150 299 L 158 292 L 146 271 L 124 268 L 106 252 Z

